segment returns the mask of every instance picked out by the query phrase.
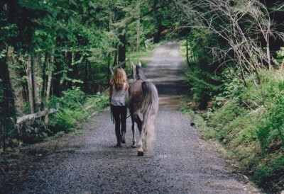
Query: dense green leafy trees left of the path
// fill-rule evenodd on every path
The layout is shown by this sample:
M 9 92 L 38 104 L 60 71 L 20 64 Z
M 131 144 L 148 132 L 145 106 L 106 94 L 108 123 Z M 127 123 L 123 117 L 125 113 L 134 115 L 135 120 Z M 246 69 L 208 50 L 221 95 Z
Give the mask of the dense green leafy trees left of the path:
M 104 91 L 108 86 L 109 66 L 124 60 L 126 50 L 143 47 L 143 41 L 155 34 L 160 37 L 158 25 L 163 25 L 163 29 L 171 25 L 170 13 L 158 11 L 167 9 L 165 4 L 168 2 L 149 0 L 1 1 L 0 63 L 6 68 L 0 77 L 1 120 L 6 119 L 4 112 L 9 107 L 16 107 L 16 113 L 9 112 L 13 113 L 9 117 L 14 118 L 54 108 L 55 103 L 50 106 L 50 101 L 57 96 L 58 102 L 63 103 L 63 96 L 63 104 L 69 104 L 62 105 L 63 110 L 57 115 L 60 120 L 66 119 L 62 123 L 67 130 L 66 126 L 77 121 L 72 118 L 72 111 L 80 108 L 78 104 L 83 105 L 81 97 Z M 9 89 L 7 84 L 11 85 Z M 81 93 L 72 90 L 77 88 Z M 5 91 L 9 91 L 9 96 Z M 48 124 L 46 118 L 41 119 Z M 57 125 L 54 120 L 50 123 Z M 33 139 L 35 130 L 25 129 L 22 136 Z M 16 130 L 9 128 L 6 132 L 9 135 Z

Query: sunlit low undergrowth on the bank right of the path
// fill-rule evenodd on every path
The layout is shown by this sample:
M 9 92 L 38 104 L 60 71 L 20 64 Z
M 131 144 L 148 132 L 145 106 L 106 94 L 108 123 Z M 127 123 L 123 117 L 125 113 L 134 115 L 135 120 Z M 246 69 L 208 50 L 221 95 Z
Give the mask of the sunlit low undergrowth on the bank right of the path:
M 188 71 L 187 80 L 200 76 L 195 69 Z M 200 87 L 196 81 L 191 89 L 193 103 L 184 103 L 182 110 L 195 115 L 202 136 L 221 142 L 259 188 L 278 193 L 284 189 L 284 77 L 268 70 L 259 73 L 261 84 L 246 76 L 247 86 L 224 73 L 217 93 L 212 95 L 213 87 L 205 91 L 211 95 L 207 110 L 196 103 L 207 85 Z

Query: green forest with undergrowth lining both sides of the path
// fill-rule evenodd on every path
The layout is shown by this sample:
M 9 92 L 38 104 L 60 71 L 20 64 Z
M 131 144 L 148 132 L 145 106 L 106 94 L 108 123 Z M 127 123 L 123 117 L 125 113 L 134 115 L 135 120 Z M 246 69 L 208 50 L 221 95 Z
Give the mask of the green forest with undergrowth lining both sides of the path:
M 283 18 L 282 0 L 2 0 L 0 166 L 109 105 L 110 67 L 178 40 L 180 109 L 264 192 L 284 190 Z

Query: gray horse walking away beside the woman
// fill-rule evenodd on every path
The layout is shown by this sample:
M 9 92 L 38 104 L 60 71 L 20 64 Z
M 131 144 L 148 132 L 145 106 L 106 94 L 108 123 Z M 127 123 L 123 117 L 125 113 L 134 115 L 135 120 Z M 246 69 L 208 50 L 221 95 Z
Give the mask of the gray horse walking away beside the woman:
M 146 81 L 146 77 L 138 65 L 131 64 L 133 83 L 129 88 L 129 112 L 132 120 L 132 147 L 136 147 L 135 122 L 140 137 L 138 140 L 138 156 L 143 156 L 144 149 L 153 150 L 155 143 L 155 117 L 158 112 L 158 91 L 153 83 Z M 143 114 L 143 120 L 139 117 Z

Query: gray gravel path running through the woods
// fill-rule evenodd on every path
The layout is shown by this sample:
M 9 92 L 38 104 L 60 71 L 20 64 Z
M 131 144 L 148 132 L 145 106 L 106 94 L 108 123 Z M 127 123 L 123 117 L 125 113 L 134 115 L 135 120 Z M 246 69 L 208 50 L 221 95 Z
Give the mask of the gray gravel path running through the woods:
M 176 110 L 183 84 L 179 45 L 155 50 L 145 69 L 157 86 L 160 108 L 152 154 L 136 156 L 128 120 L 126 145 L 116 148 L 109 109 L 94 116 L 83 134 L 73 135 L 46 156 L 13 193 L 257 193 L 232 173 L 219 154 Z

